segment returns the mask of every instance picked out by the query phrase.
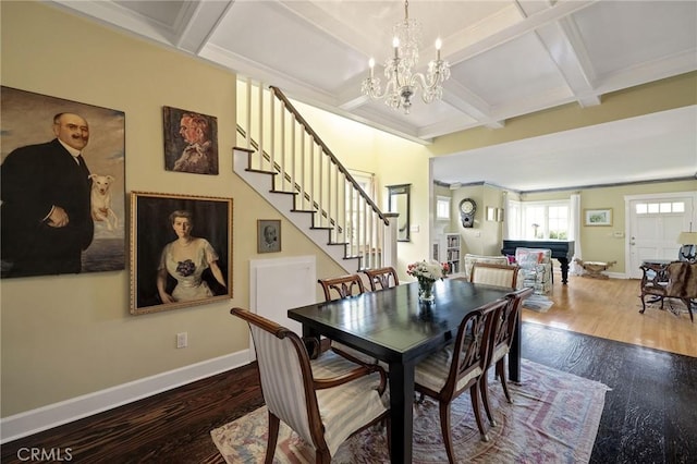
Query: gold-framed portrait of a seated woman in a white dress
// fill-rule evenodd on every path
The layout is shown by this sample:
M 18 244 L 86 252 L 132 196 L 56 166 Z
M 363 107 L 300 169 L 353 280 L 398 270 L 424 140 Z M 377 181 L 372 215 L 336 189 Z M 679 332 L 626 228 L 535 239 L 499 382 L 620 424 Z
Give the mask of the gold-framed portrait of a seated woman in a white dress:
M 232 297 L 232 198 L 131 194 L 131 313 Z

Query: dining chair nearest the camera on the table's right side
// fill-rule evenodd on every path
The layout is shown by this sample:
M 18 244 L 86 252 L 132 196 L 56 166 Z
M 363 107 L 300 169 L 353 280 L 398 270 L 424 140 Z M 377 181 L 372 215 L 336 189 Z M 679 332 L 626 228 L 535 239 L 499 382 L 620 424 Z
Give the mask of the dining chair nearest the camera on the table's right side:
M 416 365 L 414 390 L 419 393 L 419 401 L 424 395 L 438 401 L 440 428 L 450 463 L 455 462 L 450 403 L 466 390 L 469 390 L 481 439 L 489 441 L 479 406 L 479 377 L 485 373 L 492 322 L 506 305 L 508 300 L 502 298 L 467 313 L 460 323 L 454 345 L 439 350 Z

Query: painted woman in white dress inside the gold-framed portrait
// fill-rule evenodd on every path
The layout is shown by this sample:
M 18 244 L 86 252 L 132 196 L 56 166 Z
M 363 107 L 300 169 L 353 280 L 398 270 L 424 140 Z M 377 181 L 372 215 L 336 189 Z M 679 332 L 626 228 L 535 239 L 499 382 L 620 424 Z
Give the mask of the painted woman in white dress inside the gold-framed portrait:
M 191 302 L 215 296 L 203 280 L 206 269 L 210 269 L 216 281 L 227 286 L 222 271 L 218 267 L 218 254 L 206 239 L 192 235 L 193 216 L 179 209 L 170 215 L 170 223 L 176 240 L 164 245 L 158 266 L 157 291 L 162 303 Z M 167 289 L 167 277 L 176 280 L 171 293 Z

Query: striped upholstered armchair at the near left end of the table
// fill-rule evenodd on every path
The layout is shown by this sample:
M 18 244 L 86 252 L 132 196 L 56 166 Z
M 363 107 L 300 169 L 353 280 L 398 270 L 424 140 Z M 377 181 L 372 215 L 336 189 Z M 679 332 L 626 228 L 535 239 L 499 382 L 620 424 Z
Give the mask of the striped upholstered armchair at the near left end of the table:
M 379 366 L 357 365 L 331 351 L 310 361 L 293 331 L 246 309 L 230 313 L 249 325 L 254 340 L 269 417 L 266 463 L 273 462 L 281 420 L 315 448 L 316 463 L 330 463 L 348 437 L 382 420 L 389 440 L 387 377 Z

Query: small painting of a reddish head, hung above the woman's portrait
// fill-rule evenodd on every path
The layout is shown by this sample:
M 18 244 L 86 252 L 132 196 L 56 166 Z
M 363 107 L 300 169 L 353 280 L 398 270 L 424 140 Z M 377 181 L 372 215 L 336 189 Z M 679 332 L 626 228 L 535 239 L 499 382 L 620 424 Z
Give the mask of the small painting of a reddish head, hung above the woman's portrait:
M 218 175 L 218 119 L 163 107 L 164 169 Z

